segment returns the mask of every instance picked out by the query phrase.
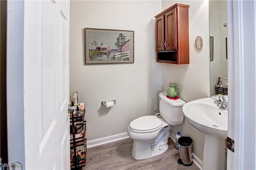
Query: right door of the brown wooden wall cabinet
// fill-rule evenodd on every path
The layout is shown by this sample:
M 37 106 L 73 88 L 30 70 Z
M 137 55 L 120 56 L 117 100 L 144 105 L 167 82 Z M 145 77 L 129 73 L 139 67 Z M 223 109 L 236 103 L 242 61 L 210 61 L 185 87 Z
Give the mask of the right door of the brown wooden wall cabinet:
M 166 50 L 177 49 L 176 8 L 165 14 L 165 41 Z

